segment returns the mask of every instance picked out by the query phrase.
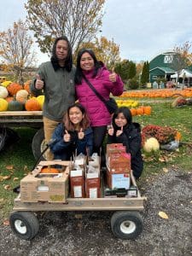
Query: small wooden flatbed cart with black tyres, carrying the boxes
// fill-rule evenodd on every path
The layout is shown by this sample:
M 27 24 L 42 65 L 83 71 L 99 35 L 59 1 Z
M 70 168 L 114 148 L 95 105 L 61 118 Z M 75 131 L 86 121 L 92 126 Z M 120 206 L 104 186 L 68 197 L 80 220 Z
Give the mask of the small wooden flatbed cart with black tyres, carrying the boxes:
M 137 188 L 131 173 L 131 184 Z M 103 186 L 102 186 L 103 192 Z M 30 240 L 38 234 L 37 212 L 47 211 L 113 211 L 111 229 L 113 235 L 121 239 L 135 239 L 143 230 L 143 211 L 145 197 L 137 188 L 136 197 L 67 198 L 66 203 L 21 202 L 20 195 L 15 199 L 9 222 L 12 230 L 21 239 Z

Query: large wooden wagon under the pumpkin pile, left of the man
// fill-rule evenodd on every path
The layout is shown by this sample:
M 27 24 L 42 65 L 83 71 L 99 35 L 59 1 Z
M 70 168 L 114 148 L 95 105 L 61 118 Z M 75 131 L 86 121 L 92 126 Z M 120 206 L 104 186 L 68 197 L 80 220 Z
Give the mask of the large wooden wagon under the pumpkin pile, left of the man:
M 32 127 L 38 131 L 32 139 L 32 153 L 38 159 L 44 150 L 44 129 L 42 111 L 5 111 L 0 112 L 0 151 L 3 149 L 13 127 Z

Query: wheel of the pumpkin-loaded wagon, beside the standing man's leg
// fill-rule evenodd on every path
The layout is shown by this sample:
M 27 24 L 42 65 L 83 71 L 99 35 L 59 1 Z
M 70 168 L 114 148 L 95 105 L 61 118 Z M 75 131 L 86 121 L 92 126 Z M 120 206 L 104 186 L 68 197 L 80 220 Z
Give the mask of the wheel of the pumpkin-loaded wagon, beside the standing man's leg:
M 45 147 L 46 143 L 44 140 L 44 128 L 41 128 L 32 138 L 32 153 L 36 160 L 38 160 Z M 42 156 L 41 160 L 45 160 L 45 154 Z

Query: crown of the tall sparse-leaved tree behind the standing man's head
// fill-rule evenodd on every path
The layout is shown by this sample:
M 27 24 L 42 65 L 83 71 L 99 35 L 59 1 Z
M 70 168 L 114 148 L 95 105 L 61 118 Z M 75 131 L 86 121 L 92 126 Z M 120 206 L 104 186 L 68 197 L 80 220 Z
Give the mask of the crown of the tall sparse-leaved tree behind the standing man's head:
M 102 26 L 105 0 L 28 0 L 30 29 L 42 52 L 50 53 L 55 38 L 67 36 L 73 51 L 90 41 Z

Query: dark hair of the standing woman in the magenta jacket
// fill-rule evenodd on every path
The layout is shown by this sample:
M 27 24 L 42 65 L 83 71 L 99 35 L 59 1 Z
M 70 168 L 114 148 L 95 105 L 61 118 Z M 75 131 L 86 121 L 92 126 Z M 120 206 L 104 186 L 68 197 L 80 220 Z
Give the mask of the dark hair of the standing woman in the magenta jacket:
M 75 84 L 81 84 L 82 78 L 83 78 L 83 72 L 82 72 L 82 68 L 80 67 L 80 61 L 81 61 L 81 57 L 82 55 L 87 52 L 88 54 L 90 54 L 90 56 L 93 58 L 94 61 L 94 73 L 93 73 L 93 77 L 96 77 L 96 74 L 98 73 L 98 69 L 100 67 L 102 67 L 101 62 L 97 61 L 96 59 L 96 55 L 94 53 L 94 51 L 92 49 L 80 49 L 78 52 L 78 56 L 77 56 L 77 65 L 76 65 L 76 72 L 75 72 Z

